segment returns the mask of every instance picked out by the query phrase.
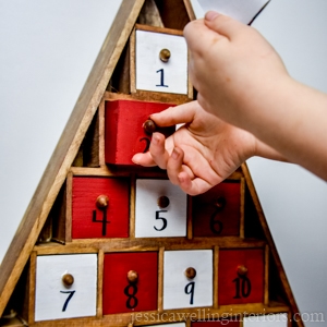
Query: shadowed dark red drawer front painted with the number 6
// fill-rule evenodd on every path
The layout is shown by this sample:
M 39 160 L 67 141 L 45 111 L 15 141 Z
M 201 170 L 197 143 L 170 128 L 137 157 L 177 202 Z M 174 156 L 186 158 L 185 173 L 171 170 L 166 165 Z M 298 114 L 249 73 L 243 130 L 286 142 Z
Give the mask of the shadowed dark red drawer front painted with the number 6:
M 240 234 L 240 182 L 225 182 L 192 197 L 193 235 Z

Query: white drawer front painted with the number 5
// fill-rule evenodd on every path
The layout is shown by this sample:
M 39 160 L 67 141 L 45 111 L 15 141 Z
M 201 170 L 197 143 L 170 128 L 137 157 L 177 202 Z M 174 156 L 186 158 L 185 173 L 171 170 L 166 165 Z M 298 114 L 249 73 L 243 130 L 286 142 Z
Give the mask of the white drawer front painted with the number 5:
M 168 207 L 158 206 L 160 196 L 169 198 Z M 186 203 L 186 194 L 169 180 L 136 180 L 135 237 L 185 237 Z

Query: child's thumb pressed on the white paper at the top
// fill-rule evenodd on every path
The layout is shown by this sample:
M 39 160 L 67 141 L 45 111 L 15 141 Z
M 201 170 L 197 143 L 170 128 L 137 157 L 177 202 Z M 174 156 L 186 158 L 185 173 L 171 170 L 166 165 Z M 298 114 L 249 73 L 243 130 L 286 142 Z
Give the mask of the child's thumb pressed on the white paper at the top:
M 230 16 L 226 16 L 222 14 L 219 14 L 215 11 L 208 11 L 205 14 L 204 22 L 207 27 L 210 29 L 227 36 L 228 38 L 232 38 L 234 35 L 237 35 L 241 28 L 243 28 L 244 24 L 233 20 Z

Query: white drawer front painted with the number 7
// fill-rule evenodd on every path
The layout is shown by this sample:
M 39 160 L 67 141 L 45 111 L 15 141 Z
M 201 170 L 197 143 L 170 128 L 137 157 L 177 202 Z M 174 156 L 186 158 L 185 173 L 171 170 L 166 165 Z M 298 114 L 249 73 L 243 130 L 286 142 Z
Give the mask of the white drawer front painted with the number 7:
M 71 274 L 74 282 L 65 287 L 62 276 Z M 63 306 L 70 293 L 74 294 Z M 96 315 L 97 255 L 47 255 L 36 261 L 35 320 Z

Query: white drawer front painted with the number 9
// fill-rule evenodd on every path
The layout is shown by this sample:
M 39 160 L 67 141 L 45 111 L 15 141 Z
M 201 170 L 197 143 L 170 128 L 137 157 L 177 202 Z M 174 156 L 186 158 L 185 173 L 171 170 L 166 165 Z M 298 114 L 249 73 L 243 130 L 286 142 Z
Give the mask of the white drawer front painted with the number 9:
M 185 270 L 189 267 L 196 270 L 196 276 L 192 280 L 185 276 Z M 191 286 L 187 287 L 192 281 L 194 282 L 193 304 L 190 303 Z M 211 305 L 213 251 L 165 251 L 164 310 Z

